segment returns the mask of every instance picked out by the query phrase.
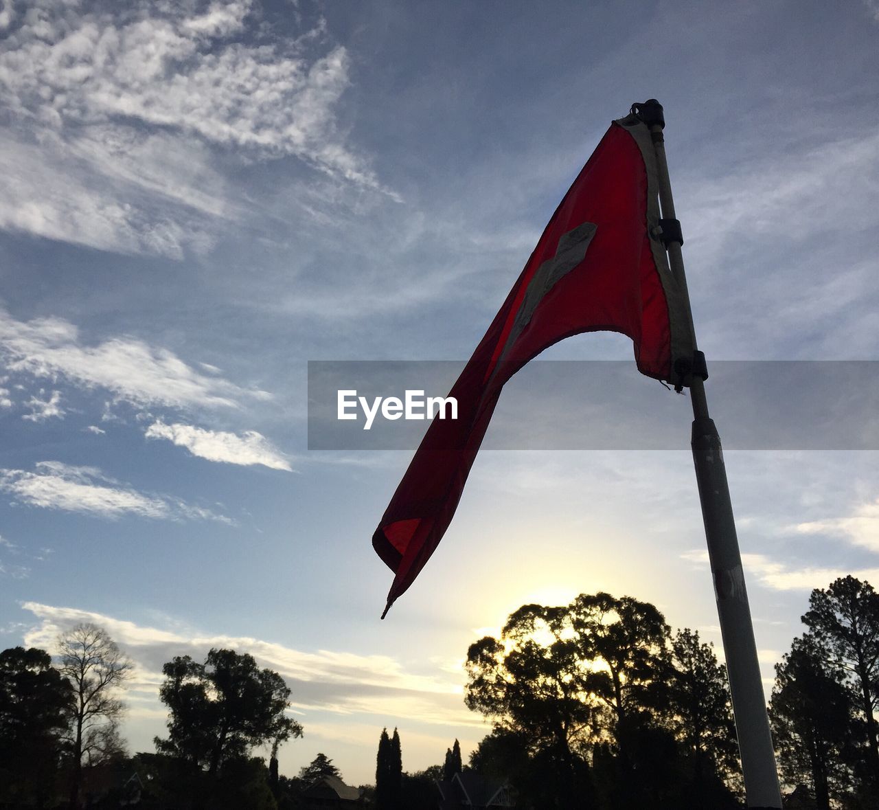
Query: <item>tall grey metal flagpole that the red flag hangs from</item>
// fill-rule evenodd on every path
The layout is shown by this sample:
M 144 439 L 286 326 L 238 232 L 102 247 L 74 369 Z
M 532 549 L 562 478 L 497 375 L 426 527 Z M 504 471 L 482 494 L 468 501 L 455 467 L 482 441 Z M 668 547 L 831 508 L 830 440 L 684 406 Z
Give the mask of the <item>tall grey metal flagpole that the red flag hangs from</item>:
M 664 219 L 674 220 L 672 184 L 668 176 L 663 140 L 665 120 L 662 116 L 662 106 L 656 99 L 650 99 L 642 107 L 651 104 L 658 108 L 657 118 L 647 117 L 645 120 L 642 116 L 642 120 L 650 125 L 650 134 L 656 151 L 662 215 Z M 680 242 L 670 241 L 666 246 L 669 266 L 683 290 L 692 327 L 693 312 L 686 289 Z M 693 334 L 695 348 L 695 331 Z M 738 551 L 736 523 L 730 503 L 730 486 L 726 479 L 720 436 L 717 434 L 714 420 L 708 416 L 705 383 L 700 376 L 693 376 L 690 384 L 690 399 L 693 403 L 694 417 L 693 460 L 696 481 L 699 485 L 702 521 L 705 523 L 705 538 L 708 541 L 708 558 L 714 576 L 723 651 L 726 653 L 726 667 L 730 675 L 732 711 L 736 719 L 738 751 L 742 758 L 742 771 L 745 776 L 747 806 L 781 808 L 781 791 L 775 768 L 772 734 L 769 730 L 766 698 L 763 695 L 763 683 L 760 679 L 751 609 L 748 606 L 748 594 L 745 590 L 745 574 Z

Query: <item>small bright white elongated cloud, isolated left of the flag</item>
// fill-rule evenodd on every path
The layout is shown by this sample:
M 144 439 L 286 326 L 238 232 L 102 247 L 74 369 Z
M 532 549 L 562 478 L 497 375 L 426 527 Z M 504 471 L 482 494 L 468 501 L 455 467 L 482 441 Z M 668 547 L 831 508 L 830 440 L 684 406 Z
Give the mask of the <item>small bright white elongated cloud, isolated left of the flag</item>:
M 265 436 L 255 430 L 242 435 L 221 430 L 205 430 L 192 425 L 166 425 L 156 421 L 144 434 L 148 439 L 167 439 L 178 447 L 185 447 L 193 456 L 207 458 L 208 461 L 229 464 L 263 464 L 272 470 L 292 472 L 290 463 L 272 447 Z

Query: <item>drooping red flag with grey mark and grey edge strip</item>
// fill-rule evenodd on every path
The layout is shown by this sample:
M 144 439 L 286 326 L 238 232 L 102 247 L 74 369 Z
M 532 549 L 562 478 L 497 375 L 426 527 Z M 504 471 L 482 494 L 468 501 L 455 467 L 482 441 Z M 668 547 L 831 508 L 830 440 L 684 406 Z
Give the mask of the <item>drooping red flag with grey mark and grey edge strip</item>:
M 556 208 L 527 265 L 434 419 L 373 536 L 396 573 L 388 606 L 445 534 L 500 391 L 527 361 L 579 332 L 622 332 L 638 369 L 678 383 L 693 357 L 686 304 L 659 240 L 656 157 L 634 114 L 616 120 Z M 679 368 L 679 367 L 678 367 Z

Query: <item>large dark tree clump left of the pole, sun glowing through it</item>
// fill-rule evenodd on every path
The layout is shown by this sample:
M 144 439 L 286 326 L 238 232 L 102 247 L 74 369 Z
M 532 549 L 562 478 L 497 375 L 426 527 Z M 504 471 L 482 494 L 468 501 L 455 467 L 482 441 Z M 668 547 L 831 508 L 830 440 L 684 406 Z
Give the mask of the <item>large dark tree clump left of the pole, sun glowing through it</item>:
M 735 806 L 725 672 L 698 634 L 672 639 L 650 603 L 523 605 L 465 666 L 465 702 L 495 726 L 471 765 L 534 806 L 683 807 L 700 793 Z

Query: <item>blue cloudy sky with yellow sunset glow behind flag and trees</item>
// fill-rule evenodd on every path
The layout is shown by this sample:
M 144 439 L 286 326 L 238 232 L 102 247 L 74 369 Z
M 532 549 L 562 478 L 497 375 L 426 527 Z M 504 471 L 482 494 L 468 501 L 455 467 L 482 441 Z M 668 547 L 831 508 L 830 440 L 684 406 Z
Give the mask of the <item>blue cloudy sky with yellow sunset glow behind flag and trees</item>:
M 632 383 L 617 421 L 661 401 L 661 449 L 589 438 L 598 385 L 562 408 L 576 449 L 491 449 L 561 408 L 511 385 L 381 622 L 370 538 L 411 450 L 309 450 L 308 362 L 465 361 L 651 97 L 722 437 L 760 414 L 712 361 L 879 360 L 875 0 L 3 0 L 0 37 L 0 643 L 105 627 L 135 663 L 133 752 L 164 732 L 163 662 L 249 652 L 304 726 L 281 772 L 320 751 L 351 784 L 384 726 L 405 770 L 455 738 L 466 758 L 489 726 L 462 661 L 525 602 L 632 595 L 722 654 L 684 398 Z M 879 585 L 875 425 L 822 402 L 853 441 L 726 453 L 767 690 L 811 588 Z

